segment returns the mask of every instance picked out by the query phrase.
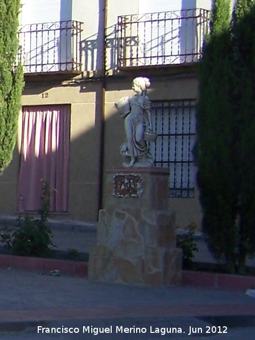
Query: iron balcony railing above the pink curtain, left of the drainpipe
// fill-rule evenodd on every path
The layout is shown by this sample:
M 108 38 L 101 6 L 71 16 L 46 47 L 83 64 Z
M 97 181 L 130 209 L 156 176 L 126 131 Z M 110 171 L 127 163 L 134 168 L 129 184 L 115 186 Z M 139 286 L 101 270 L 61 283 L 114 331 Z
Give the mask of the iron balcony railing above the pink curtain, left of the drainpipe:
M 23 25 L 18 31 L 18 61 L 24 73 L 81 72 L 82 22 Z

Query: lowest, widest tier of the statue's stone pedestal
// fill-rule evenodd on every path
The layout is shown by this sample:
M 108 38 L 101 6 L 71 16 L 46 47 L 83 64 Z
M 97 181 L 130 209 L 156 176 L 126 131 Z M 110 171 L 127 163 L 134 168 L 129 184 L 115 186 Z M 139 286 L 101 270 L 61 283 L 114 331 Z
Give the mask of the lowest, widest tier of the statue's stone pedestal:
M 114 257 L 104 246 L 95 246 L 90 252 L 89 278 L 126 284 L 168 285 L 181 283 L 181 249 L 144 247 L 140 257 Z

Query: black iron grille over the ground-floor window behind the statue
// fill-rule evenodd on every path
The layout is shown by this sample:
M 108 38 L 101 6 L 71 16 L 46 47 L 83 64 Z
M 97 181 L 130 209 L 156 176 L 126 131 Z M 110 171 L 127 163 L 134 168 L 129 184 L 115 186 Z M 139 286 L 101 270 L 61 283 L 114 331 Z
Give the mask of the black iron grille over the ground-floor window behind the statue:
M 195 99 L 151 102 L 158 138 L 149 143 L 149 150 L 156 167 L 169 168 L 169 197 L 194 197 L 195 104 Z

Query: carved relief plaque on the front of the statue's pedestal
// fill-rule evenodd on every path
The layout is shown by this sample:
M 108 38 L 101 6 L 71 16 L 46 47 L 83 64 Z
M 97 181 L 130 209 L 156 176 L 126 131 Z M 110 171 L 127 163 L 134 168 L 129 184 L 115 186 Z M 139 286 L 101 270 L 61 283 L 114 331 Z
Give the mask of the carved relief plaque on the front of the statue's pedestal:
M 143 193 L 142 177 L 135 174 L 116 174 L 113 178 L 113 196 L 141 197 Z

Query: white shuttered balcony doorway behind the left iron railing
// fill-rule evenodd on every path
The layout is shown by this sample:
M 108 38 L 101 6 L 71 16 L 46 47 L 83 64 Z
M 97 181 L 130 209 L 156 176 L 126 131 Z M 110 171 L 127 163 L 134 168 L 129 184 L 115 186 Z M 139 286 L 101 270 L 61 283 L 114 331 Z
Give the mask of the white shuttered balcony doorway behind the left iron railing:
M 71 20 L 71 5 L 72 0 L 23 0 L 21 44 L 25 72 L 72 67 L 71 28 L 60 23 Z

